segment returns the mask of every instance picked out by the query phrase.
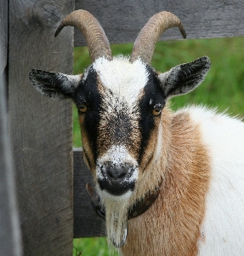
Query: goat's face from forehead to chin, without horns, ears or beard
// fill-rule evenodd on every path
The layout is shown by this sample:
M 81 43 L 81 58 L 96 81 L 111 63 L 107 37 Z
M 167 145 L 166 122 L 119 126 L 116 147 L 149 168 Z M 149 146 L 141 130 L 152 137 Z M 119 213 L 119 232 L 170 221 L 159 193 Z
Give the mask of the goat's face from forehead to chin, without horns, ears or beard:
M 132 191 L 152 158 L 154 147 L 145 148 L 149 141 L 156 144 L 151 134 L 165 104 L 154 71 L 142 61 L 99 59 L 84 74 L 75 102 L 85 157 L 99 188 L 111 195 Z

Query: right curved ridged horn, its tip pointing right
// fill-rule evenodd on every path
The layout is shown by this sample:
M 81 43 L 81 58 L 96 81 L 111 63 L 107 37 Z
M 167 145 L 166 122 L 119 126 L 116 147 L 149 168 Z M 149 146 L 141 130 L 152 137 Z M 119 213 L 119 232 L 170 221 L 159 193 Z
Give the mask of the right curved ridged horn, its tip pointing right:
M 184 27 L 178 17 L 168 12 L 153 15 L 139 32 L 133 44 L 130 61 L 133 62 L 140 58 L 145 63 L 150 64 L 158 38 L 162 35 L 162 32 L 173 26 L 178 26 L 183 38 L 186 38 Z

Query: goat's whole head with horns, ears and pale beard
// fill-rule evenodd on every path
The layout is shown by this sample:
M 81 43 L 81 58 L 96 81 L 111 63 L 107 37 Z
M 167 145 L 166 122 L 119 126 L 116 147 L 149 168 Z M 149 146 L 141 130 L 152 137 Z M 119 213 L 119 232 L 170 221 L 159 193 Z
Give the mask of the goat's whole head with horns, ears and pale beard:
M 201 84 L 210 61 L 201 57 L 167 73 L 150 67 L 154 45 L 164 30 L 178 26 L 184 35 L 179 19 L 167 12 L 147 22 L 129 60 L 112 58 L 103 29 L 88 12 L 68 15 L 57 33 L 68 25 L 84 33 L 93 64 L 77 76 L 34 69 L 30 79 L 46 96 L 71 98 L 77 104 L 84 158 L 105 206 L 107 235 L 119 247 L 127 233 L 128 209 L 162 179 L 162 174 L 152 177 L 156 175 L 148 171 L 161 153 L 162 109 L 170 97 Z

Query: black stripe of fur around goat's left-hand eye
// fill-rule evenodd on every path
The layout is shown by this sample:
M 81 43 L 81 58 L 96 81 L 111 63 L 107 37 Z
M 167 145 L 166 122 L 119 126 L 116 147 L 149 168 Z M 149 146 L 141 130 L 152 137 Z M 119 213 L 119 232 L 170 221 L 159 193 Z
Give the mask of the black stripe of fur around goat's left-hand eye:
M 77 104 L 77 108 L 84 104 L 87 106 L 87 112 L 79 114 L 84 115 L 83 125 L 88 135 L 88 141 L 94 152 L 94 158 L 98 156 L 97 138 L 98 138 L 98 126 L 100 121 L 100 105 L 101 98 L 97 86 L 97 74 L 93 67 L 88 70 L 87 79 L 82 80 L 79 84 L 74 101 Z

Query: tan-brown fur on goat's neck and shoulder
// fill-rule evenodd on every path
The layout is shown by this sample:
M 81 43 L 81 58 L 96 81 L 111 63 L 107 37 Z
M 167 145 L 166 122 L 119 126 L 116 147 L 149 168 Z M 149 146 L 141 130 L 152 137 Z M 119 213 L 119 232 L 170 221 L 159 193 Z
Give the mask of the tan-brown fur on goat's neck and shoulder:
M 171 120 L 171 125 L 164 125 L 162 129 L 162 159 L 151 166 L 156 176 L 161 172 L 161 191 L 147 212 L 129 220 L 128 239 L 122 247 L 124 256 L 197 254 L 210 161 L 201 143 L 199 127 L 190 116 L 168 114 L 164 118 L 162 115 L 162 125 L 165 120 Z M 152 180 L 155 179 L 152 177 Z

